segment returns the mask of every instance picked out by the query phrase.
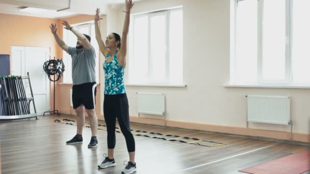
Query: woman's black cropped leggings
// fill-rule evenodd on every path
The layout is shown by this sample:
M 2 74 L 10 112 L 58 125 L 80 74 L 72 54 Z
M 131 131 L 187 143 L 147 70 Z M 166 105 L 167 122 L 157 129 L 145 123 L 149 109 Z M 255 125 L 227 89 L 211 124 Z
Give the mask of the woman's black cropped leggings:
M 128 99 L 126 94 L 105 94 L 104 116 L 108 131 L 108 148 L 115 148 L 115 126 L 117 117 L 120 129 L 126 139 L 128 152 L 135 152 L 135 138 L 130 129 Z

